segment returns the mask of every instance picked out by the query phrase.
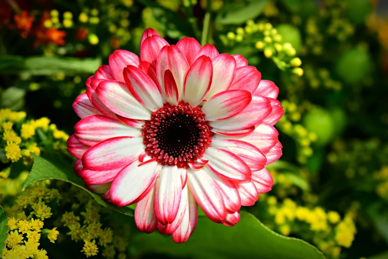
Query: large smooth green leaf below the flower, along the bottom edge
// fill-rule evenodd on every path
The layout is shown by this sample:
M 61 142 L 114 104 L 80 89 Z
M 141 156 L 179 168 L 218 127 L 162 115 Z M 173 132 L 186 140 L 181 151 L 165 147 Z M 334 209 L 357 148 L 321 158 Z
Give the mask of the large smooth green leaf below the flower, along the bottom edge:
M 171 237 L 152 233 L 134 235 L 132 246 L 138 253 L 152 251 L 153 254 L 193 259 L 324 259 L 312 245 L 281 236 L 243 211 L 240 222 L 234 227 L 216 224 L 206 217 L 198 218 L 193 235 L 183 244 L 174 243 Z

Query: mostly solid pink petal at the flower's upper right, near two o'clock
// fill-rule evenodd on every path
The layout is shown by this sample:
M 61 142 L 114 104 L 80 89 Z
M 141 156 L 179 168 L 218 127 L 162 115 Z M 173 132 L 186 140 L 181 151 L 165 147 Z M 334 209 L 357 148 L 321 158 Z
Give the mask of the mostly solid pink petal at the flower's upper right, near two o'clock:
M 261 73 L 255 66 L 247 65 L 236 69 L 236 75 L 229 90 L 241 89 L 254 93 L 258 88 L 261 79 Z

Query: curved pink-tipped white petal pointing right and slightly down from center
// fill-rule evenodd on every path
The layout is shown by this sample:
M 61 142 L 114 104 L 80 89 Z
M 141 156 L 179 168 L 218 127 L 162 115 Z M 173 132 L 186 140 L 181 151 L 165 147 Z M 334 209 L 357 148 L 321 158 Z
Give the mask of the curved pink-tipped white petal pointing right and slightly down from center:
M 267 162 L 260 149 L 246 141 L 214 136 L 211 146 L 223 148 L 238 155 L 251 168 L 251 171 L 263 169 Z

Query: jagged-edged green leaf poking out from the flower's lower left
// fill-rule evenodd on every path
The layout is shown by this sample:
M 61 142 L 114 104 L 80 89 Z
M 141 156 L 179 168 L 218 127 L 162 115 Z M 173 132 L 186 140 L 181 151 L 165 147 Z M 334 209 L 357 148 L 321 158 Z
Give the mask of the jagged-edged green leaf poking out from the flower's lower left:
M 82 180 L 76 177 L 72 171 L 61 170 L 42 157 L 39 157 L 35 154 L 32 154 L 32 156 L 34 157 L 34 165 L 32 166 L 31 172 L 28 175 L 26 181 L 24 182 L 23 189 L 29 186 L 30 184 L 41 180 L 61 180 L 70 183 L 76 187 L 79 187 L 85 192 L 89 193 L 93 196 L 93 198 L 97 201 L 98 204 L 103 205 L 104 207 L 108 207 L 120 213 L 133 216 L 133 209 L 129 207 L 117 207 L 103 200 L 100 195 L 94 194 L 84 188 Z

